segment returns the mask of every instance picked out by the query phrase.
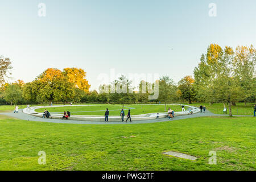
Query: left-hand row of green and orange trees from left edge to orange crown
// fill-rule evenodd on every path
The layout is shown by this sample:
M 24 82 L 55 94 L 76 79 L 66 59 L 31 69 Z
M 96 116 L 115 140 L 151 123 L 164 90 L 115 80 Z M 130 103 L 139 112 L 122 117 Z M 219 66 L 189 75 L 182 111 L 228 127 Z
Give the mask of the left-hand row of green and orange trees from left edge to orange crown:
M 46 102 L 80 102 L 89 93 L 90 85 L 86 72 L 78 68 L 46 69 L 34 81 L 24 83 L 18 80 L 2 84 L 0 97 L 9 104 L 42 104 Z

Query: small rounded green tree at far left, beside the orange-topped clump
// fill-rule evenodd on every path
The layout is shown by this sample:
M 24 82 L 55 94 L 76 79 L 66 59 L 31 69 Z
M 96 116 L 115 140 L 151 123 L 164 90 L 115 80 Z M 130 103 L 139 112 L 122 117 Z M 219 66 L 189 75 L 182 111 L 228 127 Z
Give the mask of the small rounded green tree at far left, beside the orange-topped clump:
M 22 101 L 22 90 L 18 85 L 10 84 L 5 89 L 4 98 L 10 105 L 18 104 L 18 102 Z

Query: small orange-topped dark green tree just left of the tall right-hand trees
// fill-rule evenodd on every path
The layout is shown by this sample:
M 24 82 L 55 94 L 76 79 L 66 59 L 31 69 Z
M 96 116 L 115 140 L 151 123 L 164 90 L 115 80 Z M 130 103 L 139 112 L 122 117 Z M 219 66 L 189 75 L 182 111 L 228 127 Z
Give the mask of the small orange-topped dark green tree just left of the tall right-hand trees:
M 196 98 L 194 82 L 195 80 L 192 78 L 192 76 L 185 76 L 178 82 L 180 97 L 187 100 L 189 104 L 191 104 Z

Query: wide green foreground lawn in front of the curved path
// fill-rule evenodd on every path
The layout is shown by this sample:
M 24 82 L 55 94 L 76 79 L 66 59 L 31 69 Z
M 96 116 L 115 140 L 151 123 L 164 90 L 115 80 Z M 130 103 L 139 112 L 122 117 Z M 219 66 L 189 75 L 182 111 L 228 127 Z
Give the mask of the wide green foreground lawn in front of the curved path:
M 0 170 L 255 170 L 255 124 L 253 117 L 201 117 L 75 125 L 0 115 Z M 46 165 L 38 164 L 39 151 L 46 152 Z M 209 151 L 216 151 L 217 165 L 208 164 Z

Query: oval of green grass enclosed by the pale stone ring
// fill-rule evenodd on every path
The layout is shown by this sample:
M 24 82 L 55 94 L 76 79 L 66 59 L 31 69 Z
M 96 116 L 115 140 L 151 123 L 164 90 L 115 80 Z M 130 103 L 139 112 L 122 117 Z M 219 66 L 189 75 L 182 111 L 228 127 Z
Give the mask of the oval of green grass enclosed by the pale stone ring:
M 174 111 L 181 111 L 180 105 L 167 105 L 171 107 Z M 120 111 L 122 105 L 112 105 L 112 104 L 101 104 L 101 105 L 93 105 L 93 106 L 65 106 L 65 107 L 49 107 L 49 108 L 41 108 L 36 109 L 40 113 L 43 113 L 44 109 L 47 109 L 49 113 L 63 113 L 64 111 L 70 111 L 71 114 L 75 115 L 104 115 L 105 109 L 108 108 L 109 115 L 120 115 Z M 125 114 L 128 113 L 129 108 L 131 109 L 131 115 L 137 114 L 147 114 L 147 113 L 164 113 L 164 105 L 125 105 Z M 187 109 L 187 107 L 185 107 Z M 99 110 L 99 111 L 97 111 Z M 86 111 L 86 112 L 81 112 Z

